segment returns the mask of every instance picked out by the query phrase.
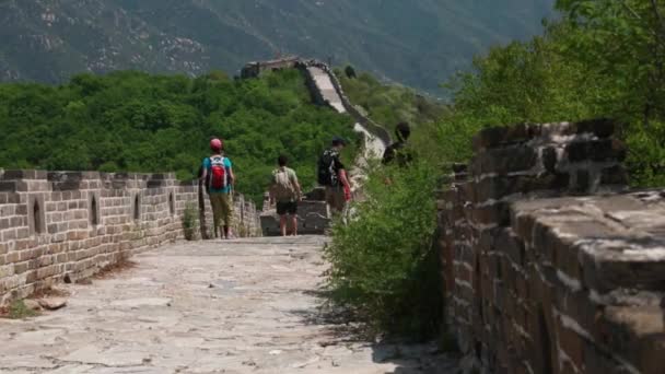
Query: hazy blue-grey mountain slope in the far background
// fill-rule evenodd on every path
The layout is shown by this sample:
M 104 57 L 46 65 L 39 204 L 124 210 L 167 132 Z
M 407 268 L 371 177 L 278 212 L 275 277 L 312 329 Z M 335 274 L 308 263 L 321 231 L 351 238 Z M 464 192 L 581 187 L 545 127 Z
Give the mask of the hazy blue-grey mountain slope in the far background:
M 434 90 L 474 54 L 540 31 L 555 0 L 0 0 L 0 80 L 81 71 L 234 74 L 295 54 Z

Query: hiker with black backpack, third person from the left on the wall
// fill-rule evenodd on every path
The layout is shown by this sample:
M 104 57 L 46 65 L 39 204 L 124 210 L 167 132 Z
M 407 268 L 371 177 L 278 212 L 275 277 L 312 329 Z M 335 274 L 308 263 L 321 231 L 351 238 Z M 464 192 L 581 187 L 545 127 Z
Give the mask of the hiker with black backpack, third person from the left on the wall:
M 335 137 L 332 147 L 324 151 L 318 159 L 318 184 L 326 187 L 326 202 L 337 213 L 342 213 L 347 202 L 351 200 L 347 170 L 339 159 L 345 145 L 342 138 Z

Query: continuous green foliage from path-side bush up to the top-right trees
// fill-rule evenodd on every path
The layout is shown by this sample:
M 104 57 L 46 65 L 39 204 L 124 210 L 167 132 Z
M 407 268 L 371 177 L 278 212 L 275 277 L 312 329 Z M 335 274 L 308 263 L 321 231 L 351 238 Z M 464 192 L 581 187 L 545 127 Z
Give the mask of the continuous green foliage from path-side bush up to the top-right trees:
M 359 219 L 336 227 L 326 248 L 331 295 L 374 331 L 438 332 L 436 179 L 444 165 L 470 159 L 486 126 L 612 118 L 622 124 L 631 184 L 665 186 L 665 1 L 557 5 L 562 19 L 542 36 L 495 47 L 448 83 L 451 110 L 416 129 L 413 164 L 374 170 Z

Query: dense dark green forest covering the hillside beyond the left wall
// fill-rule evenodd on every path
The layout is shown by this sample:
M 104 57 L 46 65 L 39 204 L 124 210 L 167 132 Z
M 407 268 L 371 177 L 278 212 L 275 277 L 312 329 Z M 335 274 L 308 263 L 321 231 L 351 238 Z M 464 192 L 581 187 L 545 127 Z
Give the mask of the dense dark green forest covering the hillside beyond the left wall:
M 295 70 L 246 81 L 221 72 L 189 79 L 126 71 L 81 74 L 60 86 L 3 84 L 0 167 L 175 171 L 190 179 L 218 136 L 237 189 L 260 201 L 280 153 L 310 186 L 327 142 L 355 139 L 351 122 L 312 105 Z

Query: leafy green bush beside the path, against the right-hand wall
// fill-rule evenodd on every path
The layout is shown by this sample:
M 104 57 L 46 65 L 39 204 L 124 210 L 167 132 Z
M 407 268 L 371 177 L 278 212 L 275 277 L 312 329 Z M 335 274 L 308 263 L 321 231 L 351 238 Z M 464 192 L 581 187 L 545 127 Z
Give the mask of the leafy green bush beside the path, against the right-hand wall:
M 438 331 L 435 175 L 425 163 L 376 170 L 366 200 L 352 207 L 354 218 L 332 229 L 325 249 L 332 301 L 358 312 L 375 332 L 425 339 Z

